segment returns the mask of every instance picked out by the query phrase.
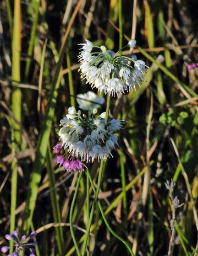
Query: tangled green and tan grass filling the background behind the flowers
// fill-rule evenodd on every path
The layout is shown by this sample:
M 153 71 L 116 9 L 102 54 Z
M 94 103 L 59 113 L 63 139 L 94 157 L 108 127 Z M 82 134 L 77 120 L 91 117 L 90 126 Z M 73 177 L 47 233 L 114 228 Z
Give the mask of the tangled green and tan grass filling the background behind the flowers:
M 198 255 L 198 68 L 189 66 L 197 62 L 197 17 L 196 0 L 1 1 L 0 246 L 6 233 L 37 230 L 37 255 L 76 255 L 69 209 L 78 174 L 57 168 L 52 148 L 59 120 L 69 106 L 78 109 L 77 94 L 91 90 L 78 72 L 78 44 L 89 39 L 117 51 L 132 38 L 137 47 L 123 54 L 150 68 L 140 88 L 111 100 L 110 116 L 125 120 L 125 129 L 105 162 L 102 209 L 135 255 L 167 255 L 171 237 L 168 255 Z M 97 161 L 89 169 L 96 180 Z M 183 204 L 174 237 L 174 205 L 164 185 L 171 179 Z M 73 215 L 79 246 L 87 226 L 85 184 L 83 175 Z M 90 252 L 128 253 L 99 208 Z

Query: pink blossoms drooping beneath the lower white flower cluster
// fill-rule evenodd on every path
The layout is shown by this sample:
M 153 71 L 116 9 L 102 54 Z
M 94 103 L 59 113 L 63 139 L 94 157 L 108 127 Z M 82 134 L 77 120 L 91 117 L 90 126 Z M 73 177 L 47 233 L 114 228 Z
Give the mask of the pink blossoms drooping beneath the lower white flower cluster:
M 54 151 L 55 153 L 60 153 L 61 152 L 61 144 L 57 144 L 54 147 Z M 79 161 L 79 160 L 75 160 L 75 161 L 69 161 L 69 160 L 65 160 L 64 156 L 62 154 L 59 154 L 59 156 L 57 156 L 54 161 L 59 164 L 59 167 L 61 167 L 63 165 L 64 169 L 67 172 L 72 172 L 72 171 L 79 171 L 80 170 L 84 170 L 84 167 L 87 169 L 86 165 Z

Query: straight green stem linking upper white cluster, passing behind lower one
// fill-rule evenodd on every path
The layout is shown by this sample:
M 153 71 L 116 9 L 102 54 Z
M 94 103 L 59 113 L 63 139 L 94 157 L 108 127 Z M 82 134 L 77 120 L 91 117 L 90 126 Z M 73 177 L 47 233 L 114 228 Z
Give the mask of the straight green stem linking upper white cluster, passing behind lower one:
M 106 107 L 105 125 L 107 125 L 107 122 L 108 122 L 110 100 L 111 100 L 111 96 L 109 94 L 107 94 L 107 107 Z M 96 201 L 97 201 L 97 197 L 98 197 L 100 186 L 101 186 L 102 171 L 103 171 L 104 163 L 105 163 L 105 161 L 102 160 L 101 164 L 100 164 L 100 170 L 99 170 L 99 174 L 98 174 L 98 182 L 97 182 L 96 194 L 95 194 L 95 198 L 94 198 L 94 203 L 93 203 L 93 205 L 91 207 L 90 218 L 89 218 L 89 221 L 87 223 L 85 239 L 84 239 L 84 242 L 83 242 L 83 249 L 82 249 L 82 255 L 83 256 L 85 255 L 87 239 L 89 237 L 91 222 L 92 222 L 92 219 L 93 219 L 93 216 L 94 216 L 94 210 L 95 210 L 95 206 L 96 206 Z

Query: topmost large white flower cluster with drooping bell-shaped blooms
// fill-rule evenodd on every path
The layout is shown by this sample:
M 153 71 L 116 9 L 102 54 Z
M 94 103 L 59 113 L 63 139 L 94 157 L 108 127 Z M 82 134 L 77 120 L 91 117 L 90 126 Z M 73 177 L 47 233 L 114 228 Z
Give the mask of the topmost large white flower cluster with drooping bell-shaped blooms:
M 130 47 L 135 44 L 135 40 L 129 42 Z M 81 78 L 86 79 L 92 88 L 113 97 L 135 89 L 136 84 L 140 86 L 144 80 L 145 62 L 137 60 L 135 55 L 119 56 L 105 46 L 94 46 L 89 40 L 80 45 L 83 45 L 78 56 Z M 93 48 L 100 49 L 100 52 L 92 51 Z

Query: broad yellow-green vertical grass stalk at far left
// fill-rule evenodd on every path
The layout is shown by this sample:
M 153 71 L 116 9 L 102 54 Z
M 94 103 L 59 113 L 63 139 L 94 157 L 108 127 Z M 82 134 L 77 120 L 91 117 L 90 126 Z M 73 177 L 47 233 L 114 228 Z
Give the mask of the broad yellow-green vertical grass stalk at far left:
M 20 0 L 14 1 L 14 28 L 12 38 L 12 80 L 20 82 L 20 47 L 21 47 L 21 17 L 20 17 Z M 10 28 L 11 29 L 11 28 Z M 14 85 L 14 82 L 13 82 Z M 21 121 L 21 90 L 13 88 L 12 92 L 12 112 L 15 118 Z M 15 209 L 17 205 L 17 159 L 16 152 L 21 147 L 21 130 L 20 126 L 14 121 L 12 126 L 12 187 L 11 187 L 11 206 L 10 206 L 10 233 L 15 229 Z M 13 242 L 10 242 L 10 252 L 13 251 Z

